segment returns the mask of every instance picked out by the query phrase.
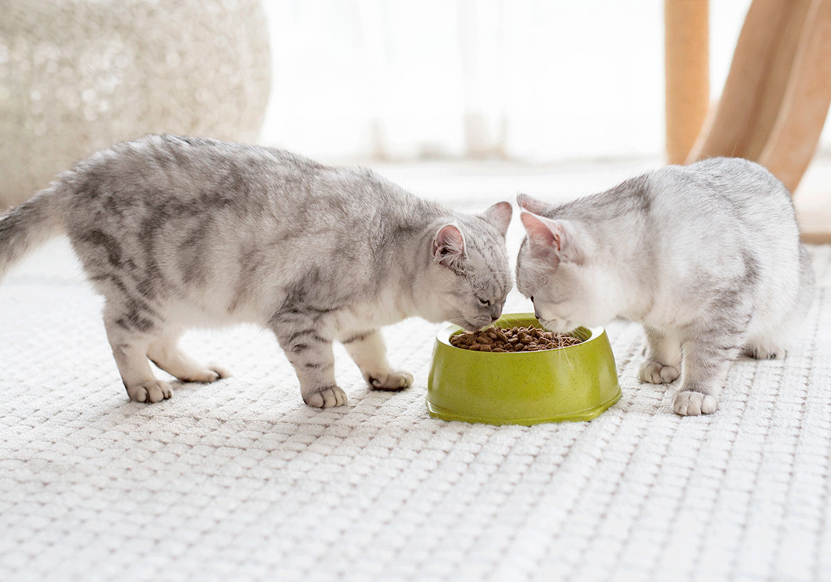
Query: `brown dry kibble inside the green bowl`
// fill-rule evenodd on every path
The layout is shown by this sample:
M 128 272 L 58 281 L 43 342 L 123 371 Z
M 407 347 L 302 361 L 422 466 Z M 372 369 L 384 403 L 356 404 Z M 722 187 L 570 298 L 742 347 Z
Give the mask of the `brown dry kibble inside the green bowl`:
M 510 329 L 489 327 L 470 334 L 450 336 L 450 344 L 457 348 L 483 352 L 555 350 L 580 343 L 583 343 L 583 340 L 573 335 L 557 334 L 533 325 Z

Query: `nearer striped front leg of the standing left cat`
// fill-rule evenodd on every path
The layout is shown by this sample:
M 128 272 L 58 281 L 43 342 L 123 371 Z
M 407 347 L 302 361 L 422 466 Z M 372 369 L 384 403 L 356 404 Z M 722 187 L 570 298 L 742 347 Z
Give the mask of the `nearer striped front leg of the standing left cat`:
M 315 408 L 331 408 L 347 403 L 347 393 L 335 384 L 335 355 L 331 339 L 321 335 L 316 327 L 297 325 L 297 321 L 273 320 L 272 330 L 294 367 L 303 402 Z

